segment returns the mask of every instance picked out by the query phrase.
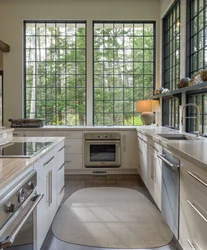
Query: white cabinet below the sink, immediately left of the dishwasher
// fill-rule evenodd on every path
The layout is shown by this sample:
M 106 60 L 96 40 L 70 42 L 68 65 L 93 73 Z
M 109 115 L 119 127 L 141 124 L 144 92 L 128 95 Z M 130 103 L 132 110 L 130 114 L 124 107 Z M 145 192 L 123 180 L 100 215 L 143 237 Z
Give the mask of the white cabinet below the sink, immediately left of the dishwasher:
M 162 161 L 158 158 L 158 154 L 162 154 L 162 146 L 149 141 L 149 164 L 148 164 L 148 189 L 161 210 L 162 195 Z

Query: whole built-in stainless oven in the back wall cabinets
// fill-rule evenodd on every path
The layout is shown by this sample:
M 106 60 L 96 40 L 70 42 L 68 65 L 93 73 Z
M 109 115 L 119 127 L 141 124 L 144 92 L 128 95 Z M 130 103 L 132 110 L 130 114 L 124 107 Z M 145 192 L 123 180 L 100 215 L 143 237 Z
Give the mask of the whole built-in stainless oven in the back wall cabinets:
M 85 133 L 85 167 L 110 168 L 121 166 L 120 133 Z

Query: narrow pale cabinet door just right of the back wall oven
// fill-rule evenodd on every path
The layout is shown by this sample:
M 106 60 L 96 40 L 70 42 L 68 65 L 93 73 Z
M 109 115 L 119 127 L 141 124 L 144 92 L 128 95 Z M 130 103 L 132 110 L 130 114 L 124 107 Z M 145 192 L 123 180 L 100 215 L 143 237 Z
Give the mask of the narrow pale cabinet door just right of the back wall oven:
M 137 169 L 137 138 L 136 131 L 121 131 L 121 168 Z

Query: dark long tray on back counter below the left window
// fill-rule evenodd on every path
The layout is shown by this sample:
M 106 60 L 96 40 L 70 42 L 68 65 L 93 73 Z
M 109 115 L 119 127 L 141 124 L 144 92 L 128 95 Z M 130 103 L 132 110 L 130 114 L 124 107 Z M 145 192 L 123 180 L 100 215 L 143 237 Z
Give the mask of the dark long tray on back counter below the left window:
M 11 122 L 11 128 L 40 128 L 43 127 L 44 119 L 26 119 L 26 118 L 18 118 L 18 119 L 9 119 Z

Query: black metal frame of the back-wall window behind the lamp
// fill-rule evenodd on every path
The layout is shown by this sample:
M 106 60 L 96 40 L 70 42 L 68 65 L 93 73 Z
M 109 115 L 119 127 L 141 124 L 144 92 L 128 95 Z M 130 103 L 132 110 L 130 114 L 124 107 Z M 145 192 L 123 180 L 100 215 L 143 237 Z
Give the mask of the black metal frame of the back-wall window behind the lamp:
M 123 111 L 123 121 L 122 121 L 122 124 L 116 124 L 116 123 L 114 123 L 114 114 L 116 114 L 116 112 L 114 112 L 114 108 L 113 108 L 113 124 L 107 124 L 107 123 L 105 123 L 104 122 L 104 118 L 103 118 L 103 123 L 102 124 L 96 124 L 96 122 L 95 122 L 95 116 L 96 116 L 96 112 L 95 112 L 95 94 L 94 94 L 94 90 L 95 90 L 95 76 L 96 76 L 96 74 L 95 74 L 95 66 L 94 66 L 94 64 L 95 64 L 95 58 L 94 58 L 94 49 L 95 49 L 95 47 L 94 47 L 94 38 L 95 38 L 95 35 L 94 35 L 94 27 L 95 27 L 95 24 L 153 24 L 153 86 L 152 86 L 152 96 L 150 96 L 151 98 L 150 99 L 152 99 L 152 97 L 153 97 L 153 92 L 154 92 L 154 89 L 155 89 L 155 68 L 156 68 L 156 60 L 155 60 L 155 58 L 156 58 L 156 21 L 150 21 L 150 20 L 148 20 L 148 21 L 139 21 L 139 20 L 135 20 L 135 21 L 133 21 L 133 20 L 130 20 L 130 21 L 125 21 L 125 20 L 120 20 L 120 21 L 116 21 L 116 20 L 96 20 L 96 21 L 93 21 L 93 125 L 122 125 L 122 126 L 127 126 L 127 125 L 132 125 L 132 126 L 136 126 L 136 124 L 134 124 L 134 119 L 135 119 L 135 114 L 137 115 L 137 112 L 136 112 L 136 102 L 135 102 L 135 100 L 133 100 L 134 101 L 134 104 L 133 104 L 133 107 L 134 107 L 134 109 L 133 109 L 133 124 L 124 124 L 124 111 Z M 144 41 L 144 35 L 143 35 L 143 41 Z M 124 48 L 123 48 L 123 50 L 124 50 Z M 114 53 L 114 52 L 113 52 Z M 124 61 L 123 61 L 124 62 Z M 126 62 L 126 61 L 125 61 Z M 134 63 L 134 61 L 133 61 L 133 63 Z M 114 68 L 113 68 L 113 72 L 114 72 Z M 114 74 L 114 73 L 113 73 Z M 134 75 L 134 74 L 133 74 Z M 143 75 L 144 75 L 144 73 L 143 73 Z M 143 83 L 143 85 L 144 85 L 144 83 Z M 133 81 L 133 86 L 134 86 L 134 81 Z M 112 87 L 112 89 L 114 89 L 114 87 Z M 133 94 L 133 96 L 134 96 L 134 94 Z M 144 87 L 143 87 L 143 96 L 144 96 Z M 144 99 L 144 98 L 143 98 Z M 148 98 L 147 98 L 148 99 Z M 114 99 L 113 99 L 113 101 L 114 101 Z M 137 101 L 137 99 L 136 99 L 136 101 Z M 103 102 L 104 102 L 104 100 L 103 100 Z

